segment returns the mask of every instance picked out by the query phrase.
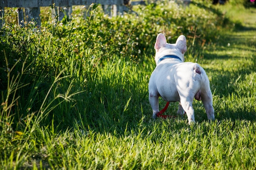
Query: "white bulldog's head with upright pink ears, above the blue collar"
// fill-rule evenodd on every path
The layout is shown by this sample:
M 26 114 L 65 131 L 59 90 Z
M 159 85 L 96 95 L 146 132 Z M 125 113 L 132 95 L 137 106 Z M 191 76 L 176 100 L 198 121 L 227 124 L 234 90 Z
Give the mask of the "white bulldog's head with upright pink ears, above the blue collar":
M 164 34 L 159 33 L 155 42 L 155 62 L 166 55 L 175 55 L 184 62 L 184 53 L 186 52 L 186 37 L 180 35 L 175 44 L 169 44 L 166 42 Z

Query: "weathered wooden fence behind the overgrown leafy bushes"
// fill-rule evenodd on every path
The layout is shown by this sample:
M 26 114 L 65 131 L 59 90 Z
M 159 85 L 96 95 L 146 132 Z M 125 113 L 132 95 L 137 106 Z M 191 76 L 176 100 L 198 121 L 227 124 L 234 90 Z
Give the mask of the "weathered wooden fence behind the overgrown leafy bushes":
M 101 4 L 105 13 L 110 16 L 116 16 L 123 13 L 124 0 L 1 0 L 0 1 L 0 28 L 3 24 L 4 7 L 18 7 L 18 22 L 20 26 L 24 26 L 22 21 L 33 20 L 37 27 L 40 27 L 40 7 L 51 7 L 52 17 L 58 15 L 58 20 L 62 20 L 65 13 L 71 17 L 73 5 L 90 6 L 92 3 Z M 23 8 L 25 8 L 25 15 Z M 26 17 L 26 18 L 25 18 Z

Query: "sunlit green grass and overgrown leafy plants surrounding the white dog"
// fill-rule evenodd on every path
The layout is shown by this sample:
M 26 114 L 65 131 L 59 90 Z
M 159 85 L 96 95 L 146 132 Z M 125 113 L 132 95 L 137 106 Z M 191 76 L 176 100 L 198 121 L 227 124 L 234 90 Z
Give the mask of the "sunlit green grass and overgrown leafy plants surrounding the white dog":
M 0 169 L 256 169 L 255 8 L 158 2 L 109 18 L 94 4 L 56 25 L 45 10 L 40 31 L 18 27 L 15 9 L 0 30 Z M 186 116 L 152 119 L 160 32 L 172 43 L 186 36 L 215 121 L 198 101 L 191 126 Z

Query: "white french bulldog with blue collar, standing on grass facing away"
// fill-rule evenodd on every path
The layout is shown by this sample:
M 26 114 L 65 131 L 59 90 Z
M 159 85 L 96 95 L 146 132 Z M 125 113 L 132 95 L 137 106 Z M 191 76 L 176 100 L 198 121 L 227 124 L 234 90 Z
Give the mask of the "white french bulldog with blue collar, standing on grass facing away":
M 184 111 L 189 124 L 195 121 L 193 98 L 204 104 L 208 119 L 214 120 L 213 99 L 209 79 L 197 63 L 184 62 L 186 38 L 180 35 L 175 44 L 166 43 L 164 34 L 159 33 L 155 42 L 157 64 L 149 83 L 149 102 L 153 118 L 159 113 L 159 96 L 167 102 L 179 102 L 178 114 Z

